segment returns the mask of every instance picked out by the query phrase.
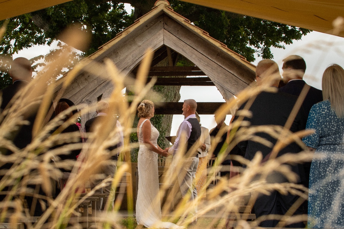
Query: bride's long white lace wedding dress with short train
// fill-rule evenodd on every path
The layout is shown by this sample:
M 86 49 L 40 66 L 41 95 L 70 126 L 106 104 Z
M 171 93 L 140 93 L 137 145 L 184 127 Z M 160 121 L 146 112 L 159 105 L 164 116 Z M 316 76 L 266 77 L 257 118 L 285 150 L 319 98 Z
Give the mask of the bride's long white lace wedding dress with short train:
M 142 125 L 148 119 L 145 119 L 139 129 L 139 189 L 136 201 L 136 221 L 137 224 L 148 228 L 171 228 L 182 229 L 171 222 L 161 221 L 160 194 L 159 194 L 159 175 L 158 175 L 158 154 L 149 150 L 143 144 Z M 159 131 L 151 124 L 151 142 L 157 146 Z

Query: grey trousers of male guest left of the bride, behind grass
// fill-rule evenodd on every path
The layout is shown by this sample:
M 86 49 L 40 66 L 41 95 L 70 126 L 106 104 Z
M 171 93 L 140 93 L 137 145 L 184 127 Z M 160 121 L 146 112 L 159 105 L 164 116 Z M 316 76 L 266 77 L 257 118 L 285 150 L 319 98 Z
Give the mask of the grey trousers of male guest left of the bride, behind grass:
M 113 178 L 116 171 L 117 171 L 117 167 L 116 167 L 116 163 L 111 161 L 107 164 L 104 164 L 104 165 L 101 165 L 101 170 L 99 172 L 99 174 L 104 174 L 105 175 L 105 178 Z M 93 189 L 94 187 L 96 187 L 98 184 L 100 184 L 104 179 L 92 179 L 90 180 L 90 186 L 91 188 Z M 108 196 L 110 195 L 110 192 L 114 193 L 115 190 L 114 189 L 111 189 L 111 182 L 103 187 L 103 188 L 100 188 L 98 190 L 95 191 L 95 194 L 100 194 L 100 193 L 106 193 Z M 107 198 L 105 199 L 105 202 L 106 203 L 107 201 Z M 101 210 L 101 206 L 103 205 L 103 198 L 100 198 L 100 201 L 97 202 L 97 210 L 100 211 Z M 112 205 L 112 209 L 114 208 L 114 200 L 111 201 L 111 205 Z

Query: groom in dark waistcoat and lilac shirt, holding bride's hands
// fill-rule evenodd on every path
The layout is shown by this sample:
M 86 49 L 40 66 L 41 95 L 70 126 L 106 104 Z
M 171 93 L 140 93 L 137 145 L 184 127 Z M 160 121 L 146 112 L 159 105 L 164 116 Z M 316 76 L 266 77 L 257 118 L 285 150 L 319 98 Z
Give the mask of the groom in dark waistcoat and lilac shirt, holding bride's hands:
M 200 145 L 199 139 L 201 136 L 201 126 L 197 121 L 195 112 L 197 108 L 197 103 L 193 99 L 184 100 L 183 103 L 183 115 L 186 117 L 184 121 L 180 124 L 177 135 L 174 141 L 174 144 L 171 148 L 168 149 L 170 154 L 175 154 L 183 146 L 182 142 L 185 142 L 185 155 L 184 161 L 182 163 L 182 170 L 180 171 L 182 175 L 178 176 L 178 182 L 180 186 L 180 191 L 182 196 L 185 197 L 187 193 L 191 196 L 190 199 L 195 204 L 193 215 L 197 213 L 197 206 L 194 202 L 197 197 L 197 190 L 195 186 L 195 173 L 198 165 L 198 151 L 197 148 L 194 152 L 188 153 L 194 144 L 197 146 Z M 184 138 L 184 139 L 182 139 Z M 187 155 L 186 155 L 187 154 Z M 185 176 L 184 176 L 185 174 Z

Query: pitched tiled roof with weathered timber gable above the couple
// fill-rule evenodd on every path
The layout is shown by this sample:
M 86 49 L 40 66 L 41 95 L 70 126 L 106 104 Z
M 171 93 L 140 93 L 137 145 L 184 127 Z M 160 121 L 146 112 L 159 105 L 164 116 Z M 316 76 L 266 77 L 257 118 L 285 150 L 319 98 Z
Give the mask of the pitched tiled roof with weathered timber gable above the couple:
M 226 100 L 246 88 L 255 78 L 255 66 L 243 56 L 174 12 L 168 1 L 158 0 L 150 12 L 82 60 L 84 71 L 66 90 L 64 98 L 79 104 L 86 99 L 91 101 L 99 96 L 97 93 L 100 91 L 113 87 L 109 80 L 101 77 L 107 74 L 105 70 L 87 73 L 87 69 L 92 69 L 92 63 L 110 58 L 127 75 L 139 64 L 147 48 L 158 50 L 162 46 L 191 60 L 214 82 Z M 55 91 L 61 88 L 63 81 L 64 77 L 57 80 L 59 86 Z

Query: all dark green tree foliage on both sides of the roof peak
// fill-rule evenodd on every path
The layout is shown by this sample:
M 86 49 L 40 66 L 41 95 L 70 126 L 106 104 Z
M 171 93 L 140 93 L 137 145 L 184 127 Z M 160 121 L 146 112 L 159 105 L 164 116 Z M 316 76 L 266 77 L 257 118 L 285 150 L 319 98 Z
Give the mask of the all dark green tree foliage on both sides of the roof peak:
M 154 3 L 148 0 L 123 2 L 136 7 L 135 16 L 147 13 Z M 281 43 L 291 44 L 294 39 L 301 39 L 302 35 L 310 32 L 302 28 L 177 0 L 171 0 L 170 3 L 176 12 L 190 19 L 230 49 L 246 57 L 248 61 L 255 60 L 255 53 L 263 58 L 272 58 L 270 47 L 284 48 Z M 92 41 L 89 48 L 81 54 L 71 51 L 66 61 L 68 64 L 56 68 L 55 77 L 57 77 L 63 73 L 63 67 L 72 68 L 80 58 L 97 51 L 99 46 L 132 24 L 134 19 L 134 12 L 128 14 L 124 10 L 123 3 L 107 0 L 74 0 L 10 19 L 4 39 L 0 42 L 0 88 L 11 82 L 8 75 L 8 62 L 19 50 L 34 45 L 50 45 L 70 24 L 77 23 L 82 30 L 91 31 Z M 3 23 L 4 21 L 1 21 L 0 25 Z M 63 43 L 58 44 L 58 49 L 64 50 L 64 48 L 66 47 Z M 46 55 L 45 60 L 50 62 L 56 58 L 61 53 L 58 49 Z M 36 67 L 34 66 L 34 70 Z

